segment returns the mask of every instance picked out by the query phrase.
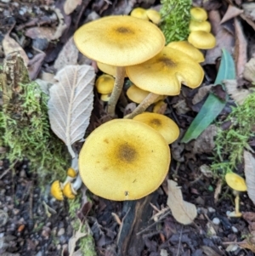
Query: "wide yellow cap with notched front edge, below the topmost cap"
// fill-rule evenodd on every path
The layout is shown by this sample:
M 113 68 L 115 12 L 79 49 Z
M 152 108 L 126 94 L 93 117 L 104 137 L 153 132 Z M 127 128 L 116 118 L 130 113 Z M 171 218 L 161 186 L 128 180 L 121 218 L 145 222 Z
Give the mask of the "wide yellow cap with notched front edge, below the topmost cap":
M 126 67 L 127 76 L 139 88 L 159 95 L 178 95 L 181 83 L 200 86 L 204 71 L 187 54 L 165 47 L 159 54 L 139 65 Z

